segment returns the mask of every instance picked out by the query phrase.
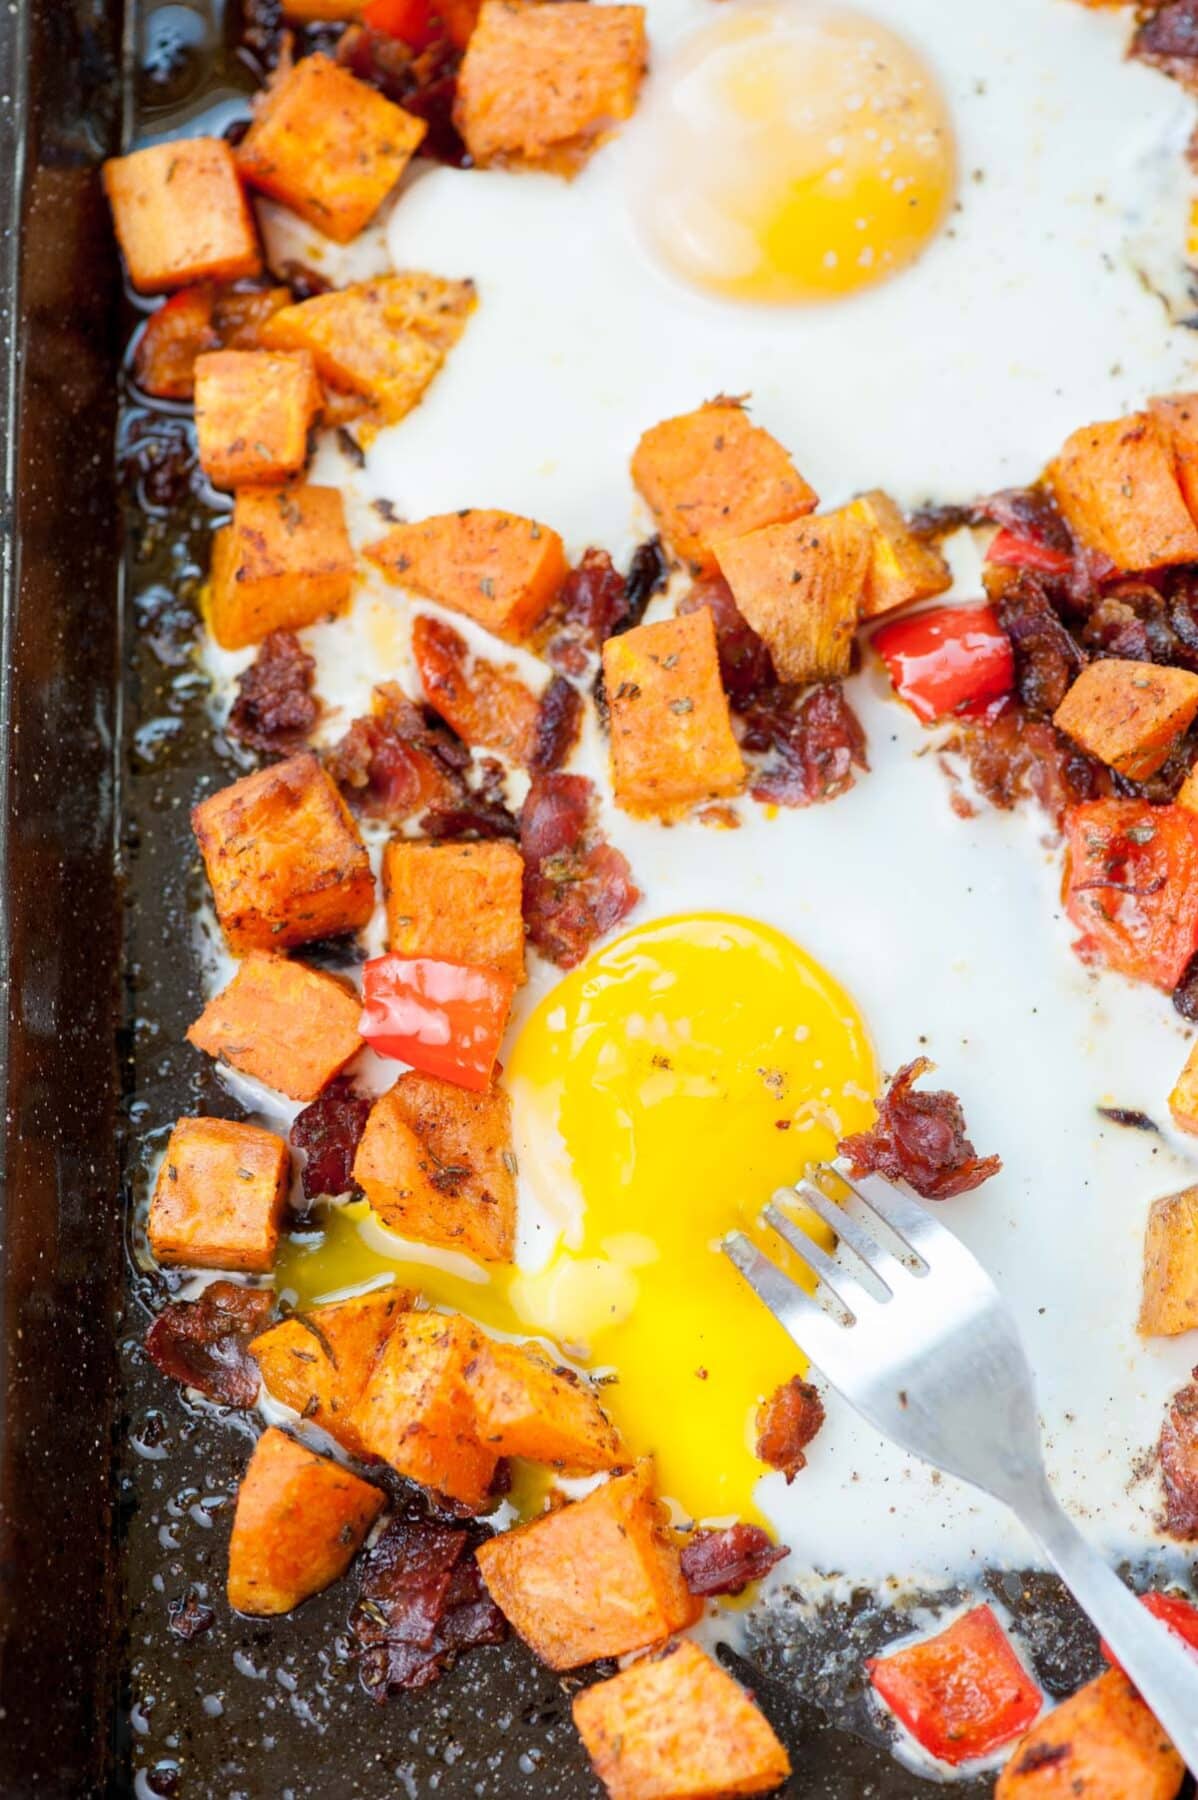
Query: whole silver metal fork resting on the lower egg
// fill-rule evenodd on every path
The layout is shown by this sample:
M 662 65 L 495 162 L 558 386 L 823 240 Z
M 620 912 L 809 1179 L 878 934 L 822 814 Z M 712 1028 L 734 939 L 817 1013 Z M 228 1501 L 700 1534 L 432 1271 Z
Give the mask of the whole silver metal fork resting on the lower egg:
M 782 1211 L 795 1199 L 836 1235 L 831 1255 Z M 878 1175 L 849 1181 L 840 1163 L 782 1188 L 764 1219 L 817 1289 L 806 1292 L 734 1231 L 723 1249 L 750 1287 L 878 1431 L 1011 1507 L 1198 1775 L 1198 1658 L 1135 1600 L 1056 1501 L 1033 1372 L 977 1258 L 908 1192 Z

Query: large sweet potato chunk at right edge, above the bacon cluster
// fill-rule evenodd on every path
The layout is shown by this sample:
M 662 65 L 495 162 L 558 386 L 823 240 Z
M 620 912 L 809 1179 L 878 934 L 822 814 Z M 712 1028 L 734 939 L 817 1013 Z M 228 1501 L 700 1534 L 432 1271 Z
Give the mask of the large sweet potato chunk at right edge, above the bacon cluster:
M 1198 560 L 1198 526 L 1182 499 L 1173 446 L 1149 412 L 1085 425 L 1045 473 L 1074 535 L 1115 569 Z

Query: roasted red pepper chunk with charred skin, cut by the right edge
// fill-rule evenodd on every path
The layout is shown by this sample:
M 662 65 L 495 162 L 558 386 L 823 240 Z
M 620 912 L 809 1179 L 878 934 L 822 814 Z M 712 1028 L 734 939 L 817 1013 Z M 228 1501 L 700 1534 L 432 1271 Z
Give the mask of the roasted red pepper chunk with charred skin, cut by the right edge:
M 1139 799 L 1072 806 L 1061 900 L 1085 961 L 1171 994 L 1198 949 L 1198 819 Z

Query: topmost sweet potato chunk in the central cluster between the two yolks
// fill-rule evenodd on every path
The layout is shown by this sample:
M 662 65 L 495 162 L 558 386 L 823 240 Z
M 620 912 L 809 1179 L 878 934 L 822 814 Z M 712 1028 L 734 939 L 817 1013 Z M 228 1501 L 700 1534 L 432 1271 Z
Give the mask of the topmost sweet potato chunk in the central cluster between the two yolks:
M 781 443 L 754 425 L 739 400 L 709 400 L 653 425 L 631 477 L 667 549 L 696 574 L 714 574 L 716 538 L 802 518 L 818 506 Z

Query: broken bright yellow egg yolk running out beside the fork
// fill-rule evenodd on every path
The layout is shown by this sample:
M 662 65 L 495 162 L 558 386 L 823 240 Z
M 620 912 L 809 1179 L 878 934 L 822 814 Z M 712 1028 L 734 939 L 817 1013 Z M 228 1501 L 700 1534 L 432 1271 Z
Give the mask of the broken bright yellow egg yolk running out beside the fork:
M 318 1244 L 291 1244 L 281 1289 L 306 1305 L 385 1269 L 484 1327 L 547 1337 L 613 1377 L 603 1402 L 684 1517 L 754 1517 L 754 1415 L 804 1364 L 720 1240 L 761 1237 L 773 1190 L 872 1120 L 851 999 L 766 925 L 667 918 L 550 990 L 505 1084 L 518 1269 L 414 1255 L 356 1204 L 331 1210 Z

